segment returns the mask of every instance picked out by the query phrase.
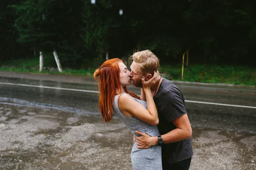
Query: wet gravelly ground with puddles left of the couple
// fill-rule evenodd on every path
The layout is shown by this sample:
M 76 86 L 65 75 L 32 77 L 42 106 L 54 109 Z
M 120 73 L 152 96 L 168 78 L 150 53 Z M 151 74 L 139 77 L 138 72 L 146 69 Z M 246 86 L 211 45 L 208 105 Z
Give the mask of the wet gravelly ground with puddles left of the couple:
M 46 107 L 20 101 L 0 104 L 0 169 L 130 169 L 131 148 L 127 148 L 132 134 L 120 121 L 113 119 L 107 124 L 99 114 Z M 119 130 L 131 139 L 125 147 L 114 147 L 113 136 L 105 135 Z M 127 136 L 123 137 L 115 144 L 127 141 Z M 119 166 L 112 168 L 109 160 L 118 154 L 128 159 L 115 159 Z

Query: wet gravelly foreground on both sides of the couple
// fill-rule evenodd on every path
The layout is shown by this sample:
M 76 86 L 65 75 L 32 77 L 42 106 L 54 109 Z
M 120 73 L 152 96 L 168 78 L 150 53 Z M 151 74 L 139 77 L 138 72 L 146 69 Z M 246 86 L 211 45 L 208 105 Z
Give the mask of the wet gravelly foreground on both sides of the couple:
M 105 123 L 99 114 L 10 103 L 0 103 L 0 169 L 132 169 L 132 134 L 118 119 Z M 195 127 L 191 139 L 190 170 L 256 166 L 255 135 Z

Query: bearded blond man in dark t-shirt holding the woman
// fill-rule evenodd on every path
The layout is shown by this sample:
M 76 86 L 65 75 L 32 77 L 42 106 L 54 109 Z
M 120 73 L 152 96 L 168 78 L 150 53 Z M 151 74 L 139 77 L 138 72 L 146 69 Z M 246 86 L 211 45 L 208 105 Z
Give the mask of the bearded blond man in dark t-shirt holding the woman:
M 148 81 L 159 68 L 159 59 L 151 51 L 136 52 L 132 56 L 131 78 L 135 87 L 141 88 L 141 99 L 145 100 L 142 77 Z M 157 106 L 161 135 L 148 136 L 136 131 L 137 148 L 146 149 L 152 145 L 162 146 L 163 170 L 188 170 L 193 155 L 190 137 L 192 128 L 186 113 L 184 97 L 181 91 L 169 80 L 158 77 L 151 87 L 151 93 Z

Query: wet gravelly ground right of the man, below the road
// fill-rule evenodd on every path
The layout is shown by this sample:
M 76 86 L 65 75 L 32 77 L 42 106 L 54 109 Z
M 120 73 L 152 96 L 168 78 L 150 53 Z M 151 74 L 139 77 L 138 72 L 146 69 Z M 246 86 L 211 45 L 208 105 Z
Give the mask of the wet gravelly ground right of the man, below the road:
M 196 127 L 191 140 L 192 167 L 201 166 L 202 170 L 256 168 L 256 135 Z M 201 161 L 193 161 L 196 159 Z

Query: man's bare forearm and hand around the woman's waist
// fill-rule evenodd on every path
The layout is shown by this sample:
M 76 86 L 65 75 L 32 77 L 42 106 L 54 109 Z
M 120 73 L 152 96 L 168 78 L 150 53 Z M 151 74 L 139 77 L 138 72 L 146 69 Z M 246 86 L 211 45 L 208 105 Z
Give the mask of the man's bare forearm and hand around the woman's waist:
M 174 119 L 172 123 L 176 126 L 176 129 L 161 135 L 164 143 L 178 142 L 192 136 L 192 128 L 187 114 L 179 116 L 177 119 Z M 139 131 L 136 131 L 136 133 L 142 135 L 140 137 L 135 136 L 137 148 L 139 149 L 146 149 L 158 143 L 157 136 L 151 137 Z

